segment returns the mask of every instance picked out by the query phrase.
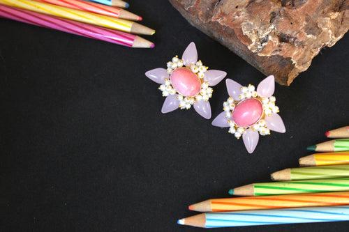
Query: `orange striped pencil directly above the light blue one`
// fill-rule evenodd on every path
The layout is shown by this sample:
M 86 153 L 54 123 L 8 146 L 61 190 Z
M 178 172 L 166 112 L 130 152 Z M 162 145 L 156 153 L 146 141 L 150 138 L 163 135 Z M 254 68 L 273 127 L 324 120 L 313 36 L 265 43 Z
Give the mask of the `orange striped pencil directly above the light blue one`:
M 202 201 L 189 206 L 189 210 L 198 212 L 223 212 L 344 205 L 349 205 L 349 192 L 289 194 L 276 196 L 244 196 L 235 198 L 209 199 L 207 201 Z

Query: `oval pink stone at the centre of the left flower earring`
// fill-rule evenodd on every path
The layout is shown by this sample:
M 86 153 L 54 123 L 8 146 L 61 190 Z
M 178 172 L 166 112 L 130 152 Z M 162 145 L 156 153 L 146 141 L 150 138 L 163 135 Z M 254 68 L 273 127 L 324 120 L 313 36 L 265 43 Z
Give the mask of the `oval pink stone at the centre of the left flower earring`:
M 176 68 L 170 76 L 173 88 L 185 97 L 193 97 L 200 92 L 201 82 L 188 68 Z

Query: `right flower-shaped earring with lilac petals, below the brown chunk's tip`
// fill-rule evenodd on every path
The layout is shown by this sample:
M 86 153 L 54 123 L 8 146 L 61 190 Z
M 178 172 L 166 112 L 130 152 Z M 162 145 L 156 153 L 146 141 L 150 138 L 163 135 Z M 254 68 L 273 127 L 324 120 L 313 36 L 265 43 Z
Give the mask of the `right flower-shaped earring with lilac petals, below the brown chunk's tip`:
M 279 107 L 273 96 L 274 76 L 262 80 L 257 86 L 242 86 L 232 79 L 226 80 L 229 98 L 223 103 L 223 112 L 212 125 L 230 127 L 229 132 L 237 139 L 242 137 L 248 153 L 253 153 L 258 144 L 259 135 L 270 134 L 270 130 L 285 133 L 285 125 L 279 116 Z

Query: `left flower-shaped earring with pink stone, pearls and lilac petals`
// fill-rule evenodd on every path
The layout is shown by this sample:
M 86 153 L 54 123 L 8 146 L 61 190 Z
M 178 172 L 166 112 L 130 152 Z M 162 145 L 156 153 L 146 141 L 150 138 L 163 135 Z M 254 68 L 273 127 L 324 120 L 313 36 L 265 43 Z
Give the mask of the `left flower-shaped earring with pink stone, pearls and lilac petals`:
M 163 114 L 177 108 L 190 109 L 204 118 L 211 118 L 209 98 L 212 97 L 215 86 L 227 75 L 220 70 L 208 70 L 208 67 L 198 61 L 198 52 L 195 43 L 191 42 L 184 51 L 181 59 L 174 56 L 165 68 L 156 68 L 145 72 L 152 81 L 161 84 L 158 88 L 163 93 L 165 102 L 161 112 Z

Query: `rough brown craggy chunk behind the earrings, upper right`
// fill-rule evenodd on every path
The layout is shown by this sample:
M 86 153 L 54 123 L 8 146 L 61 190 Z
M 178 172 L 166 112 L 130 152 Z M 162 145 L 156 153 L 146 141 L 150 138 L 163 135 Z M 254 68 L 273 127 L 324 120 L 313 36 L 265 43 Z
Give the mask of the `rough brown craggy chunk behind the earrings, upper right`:
M 193 26 L 279 84 L 348 31 L 349 0 L 170 0 Z

